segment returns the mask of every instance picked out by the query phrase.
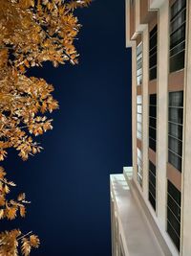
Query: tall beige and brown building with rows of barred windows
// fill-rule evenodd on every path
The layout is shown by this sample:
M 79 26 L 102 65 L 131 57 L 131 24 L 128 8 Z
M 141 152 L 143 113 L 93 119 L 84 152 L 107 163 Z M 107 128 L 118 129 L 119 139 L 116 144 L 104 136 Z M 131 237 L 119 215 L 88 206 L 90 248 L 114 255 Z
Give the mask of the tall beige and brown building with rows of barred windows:
M 113 256 L 191 256 L 191 1 L 126 0 L 133 167 L 111 175 Z

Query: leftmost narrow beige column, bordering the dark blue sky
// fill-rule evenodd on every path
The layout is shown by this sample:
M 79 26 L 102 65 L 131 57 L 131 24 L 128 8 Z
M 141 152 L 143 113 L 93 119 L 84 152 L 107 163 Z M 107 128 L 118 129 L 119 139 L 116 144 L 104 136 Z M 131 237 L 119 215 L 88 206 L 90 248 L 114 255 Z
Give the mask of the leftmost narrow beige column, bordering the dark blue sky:
M 137 183 L 137 55 L 136 41 L 132 41 L 132 157 L 133 178 Z

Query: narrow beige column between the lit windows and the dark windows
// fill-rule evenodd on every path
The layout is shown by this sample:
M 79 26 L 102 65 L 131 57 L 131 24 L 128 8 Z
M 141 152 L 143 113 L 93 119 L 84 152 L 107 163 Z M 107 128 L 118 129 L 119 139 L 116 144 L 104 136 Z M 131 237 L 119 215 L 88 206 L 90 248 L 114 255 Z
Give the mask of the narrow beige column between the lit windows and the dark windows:
M 148 200 L 148 26 L 142 33 L 142 170 L 143 170 L 143 196 Z

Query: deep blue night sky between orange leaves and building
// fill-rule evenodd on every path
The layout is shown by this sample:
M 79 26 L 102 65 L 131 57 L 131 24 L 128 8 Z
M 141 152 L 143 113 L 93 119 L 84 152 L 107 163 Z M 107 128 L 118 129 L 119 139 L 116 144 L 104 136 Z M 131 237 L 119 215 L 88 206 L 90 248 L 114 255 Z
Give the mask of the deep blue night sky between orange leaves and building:
M 83 25 L 77 66 L 49 63 L 32 75 L 53 83 L 53 130 L 44 151 L 23 162 L 11 151 L 3 166 L 14 193 L 32 201 L 25 219 L 2 221 L 41 240 L 33 256 L 111 256 L 109 175 L 130 166 L 131 51 L 125 48 L 125 1 L 95 0 L 77 11 Z

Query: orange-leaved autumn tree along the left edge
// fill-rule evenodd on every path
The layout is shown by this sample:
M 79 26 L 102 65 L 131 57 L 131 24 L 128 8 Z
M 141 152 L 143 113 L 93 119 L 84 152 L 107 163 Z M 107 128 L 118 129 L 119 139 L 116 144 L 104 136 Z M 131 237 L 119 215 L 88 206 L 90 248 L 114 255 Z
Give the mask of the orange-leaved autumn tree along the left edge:
M 74 10 L 90 3 L 91 0 L 0 0 L 0 161 L 9 148 L 18 151 L 23 160 L 42 150 L 34 136 L 53 128 L 53 120 L 45 113 L 57 109 L 58 103 L 53 99 L 53 85 L 29 77 L 27 71 L 41 67 L 44 61 L 51 61 L 54 67 L 66 61 L 77 64 L 74 39 L 81 25 Z M 14 184 L 5 175 L 0 169 L 0 219 L 12 220 L 17 211 L 24 217 L 25 194 L 20 196 L 21 201 L 18 197 L 17 201 L 8 202 L 6 195 Z M 36 244 L 32 245 L 34 240 Z M 32 246 L 39 244 L 34 235 L 27 238 L 20 230 L 6 231 L 0 233 L 0 255 L 17 255 L 18 241 L 23 243 L 23 255 L 29 255 Z M 11 244 L 10 249 L 6 244 Z

